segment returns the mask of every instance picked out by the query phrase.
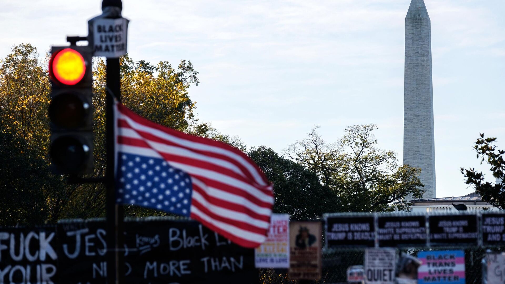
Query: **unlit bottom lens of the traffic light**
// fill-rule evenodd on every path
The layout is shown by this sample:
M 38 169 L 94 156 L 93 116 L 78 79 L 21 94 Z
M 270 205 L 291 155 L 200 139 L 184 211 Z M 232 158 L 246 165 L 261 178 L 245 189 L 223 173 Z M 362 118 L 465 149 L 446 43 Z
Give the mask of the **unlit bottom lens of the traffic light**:
M 73 136 L 61 136 L 51 144 L 51 159 L 62 173 L 77 173 L 85 167 L 89 147 Z

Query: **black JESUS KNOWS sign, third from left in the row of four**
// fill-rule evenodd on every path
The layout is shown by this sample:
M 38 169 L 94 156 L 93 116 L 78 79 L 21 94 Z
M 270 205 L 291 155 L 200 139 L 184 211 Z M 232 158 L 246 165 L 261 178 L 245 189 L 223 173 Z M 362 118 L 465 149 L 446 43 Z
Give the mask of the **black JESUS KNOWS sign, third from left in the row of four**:
M 477 246 L 477 215 L 429 216 L 431 246 Z

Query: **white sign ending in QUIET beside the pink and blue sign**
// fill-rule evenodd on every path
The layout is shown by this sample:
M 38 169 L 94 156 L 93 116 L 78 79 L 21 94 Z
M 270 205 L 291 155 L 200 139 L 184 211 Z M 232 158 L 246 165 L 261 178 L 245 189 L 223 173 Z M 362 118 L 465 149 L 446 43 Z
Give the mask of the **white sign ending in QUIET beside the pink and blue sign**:
M 365 250 L 365 283 L 394 283 L 396 268 L 396 250 L 366 249 Z

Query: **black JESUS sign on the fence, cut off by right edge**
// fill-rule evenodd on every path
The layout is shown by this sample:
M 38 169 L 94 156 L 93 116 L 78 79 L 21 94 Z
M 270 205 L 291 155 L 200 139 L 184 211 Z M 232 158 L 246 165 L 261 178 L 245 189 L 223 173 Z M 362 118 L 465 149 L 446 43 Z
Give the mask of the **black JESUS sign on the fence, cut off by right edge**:
M 484 246 L 505 244 L 505 214 L 482 213 L 482 244 Z

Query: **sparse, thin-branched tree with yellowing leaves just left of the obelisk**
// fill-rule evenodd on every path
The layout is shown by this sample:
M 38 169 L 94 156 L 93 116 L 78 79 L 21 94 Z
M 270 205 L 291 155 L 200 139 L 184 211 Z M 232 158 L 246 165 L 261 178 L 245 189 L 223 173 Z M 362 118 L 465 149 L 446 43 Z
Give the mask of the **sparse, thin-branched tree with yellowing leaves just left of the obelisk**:
M 408 199 L 424 192 L 420 169 L 399 166 L 396 154 L 377 148 L 373 124 L 347 127 L 336 143 L 326 143 L 317 132 L 297 141 L 285 155 L 315 172 L 336 196 L 341 212 L 408 210 Z

